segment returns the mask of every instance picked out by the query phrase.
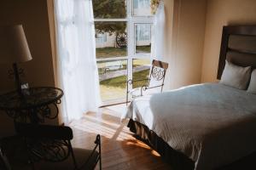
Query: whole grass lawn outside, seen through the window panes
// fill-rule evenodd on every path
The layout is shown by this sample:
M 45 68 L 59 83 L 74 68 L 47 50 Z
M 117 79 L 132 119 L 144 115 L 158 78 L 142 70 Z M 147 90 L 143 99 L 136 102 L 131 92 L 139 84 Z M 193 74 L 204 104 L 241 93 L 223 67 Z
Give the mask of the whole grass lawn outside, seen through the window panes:
M 150 46 L 138 46 L 137 50 L 144 53 L 150 53 Z M 103 59 L 103 58 L 111 58 L 111 57 L 120 57 L 120 56 L 127 56 L 127 50 L 126 48 L 96 48 L 96 58 L 97 59 Z M 104 70 L 107 66 L 107 63 L 111 61 L 98 61 L 98 71 L 99 74 L 104 74 Z M 119 68 L 114 71 L 118 70 L 126 70 L 127 66 L 127 59 L 121 59 L 122 68 Z M 137 67 L 140 65 L 150 65 L 150 59 L 134 59 L 133 60 L 133 67 Z M 108 63 L 109 65 L 109 63 Z M 113 65 L 114 62 L 113 62 Z M 110 70 L 111 71 L 111 70 Z M 146 79 L 148 78 L 149 70 L 145 71 L 137 71 L 133 73 L 133 79 Z M 126 95 L 126 76 L 121 77 L 114 77 L 107 80 L 103 80 L 100 82 L 100 88 L 101 88 L 101 95 L 102 100 L 106 101 L 109 99 L 121 99 L 125 98 Z M 141 87 L 143 85 L 146 85 L 147 81 L 141 81 L 141 82 L 134 82 L 133 88 Z

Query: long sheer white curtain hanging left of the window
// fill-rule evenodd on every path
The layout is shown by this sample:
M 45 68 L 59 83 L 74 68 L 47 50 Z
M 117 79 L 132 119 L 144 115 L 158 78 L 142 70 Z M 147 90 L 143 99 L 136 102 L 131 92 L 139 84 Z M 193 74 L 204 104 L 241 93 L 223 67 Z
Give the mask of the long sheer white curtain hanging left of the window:
M 91 0 L 55 0 L 57 71 L 64 122 L 100 105 Z

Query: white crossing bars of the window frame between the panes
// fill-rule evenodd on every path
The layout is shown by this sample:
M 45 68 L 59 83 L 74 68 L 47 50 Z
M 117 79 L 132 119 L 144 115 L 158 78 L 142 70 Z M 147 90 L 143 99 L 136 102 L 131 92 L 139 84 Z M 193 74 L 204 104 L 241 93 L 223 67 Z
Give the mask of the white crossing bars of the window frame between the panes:
M 132 79 L 132 61 L 133 59 L 151 59 L 150 54 L 136 54 L 136 25 L 137 24 L 151 24 L 154 26 L 153 15 L 133 15 L 133 0 L 126 0 L 126 18 L 125 19 L 94 19 L 95 22 L 126 22 L 127 24 L 127 56 L 122 57 L 111 57 L 106 59 L 96 59 L 97 61 L 102 60 L 117 60 L 127 59 L 127 80 Z M 151 29 L 151 37 L 153 29 Z M 151 39 L 152 41 L 152 39 Z M 126 87 L 129 90 L 131 86 Z

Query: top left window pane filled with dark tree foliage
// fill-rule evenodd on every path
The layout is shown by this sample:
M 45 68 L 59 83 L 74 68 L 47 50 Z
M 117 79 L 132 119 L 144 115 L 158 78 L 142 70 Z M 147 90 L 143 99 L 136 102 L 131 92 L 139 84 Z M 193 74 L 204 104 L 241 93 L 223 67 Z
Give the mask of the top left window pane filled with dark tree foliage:
M 126 18 L 126 0 L 93 0 L 92 5 L 96 19 Z

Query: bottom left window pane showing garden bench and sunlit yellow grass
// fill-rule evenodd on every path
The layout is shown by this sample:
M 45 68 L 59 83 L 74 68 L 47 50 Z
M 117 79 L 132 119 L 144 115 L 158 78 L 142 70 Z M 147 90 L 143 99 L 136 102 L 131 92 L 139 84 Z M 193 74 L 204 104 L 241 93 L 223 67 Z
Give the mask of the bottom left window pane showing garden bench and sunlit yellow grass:
M 103 101 L 124 99 L 126 95 L 127 59 L 97 59 Z

